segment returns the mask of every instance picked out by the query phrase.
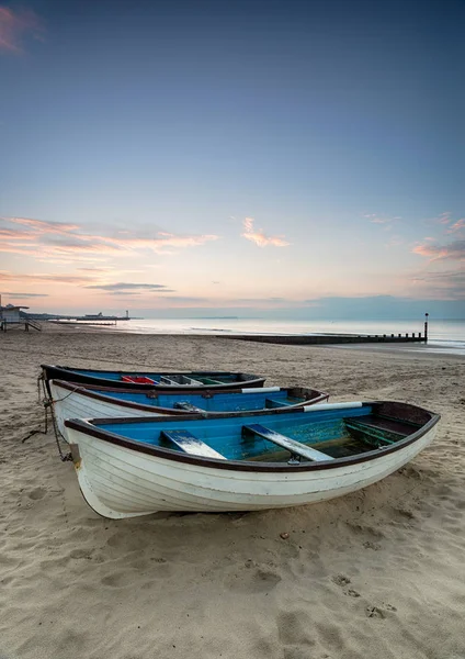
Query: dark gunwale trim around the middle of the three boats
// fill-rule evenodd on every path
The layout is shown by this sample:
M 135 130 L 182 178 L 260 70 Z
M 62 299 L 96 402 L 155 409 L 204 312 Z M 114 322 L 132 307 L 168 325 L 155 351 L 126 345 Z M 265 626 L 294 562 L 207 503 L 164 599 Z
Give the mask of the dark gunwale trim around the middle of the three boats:
M 172 414 L 172 415 L 178 415 L 178 416 L 185 416 L 188 414 L 188 412 L 183 411 L 183 410 L 177 410 L 174 407 L 158 407 L 156 405 L 144 405 L 144 403 L 134 403 L 133 401 L 124 401 L 121 399 L 114 399 L 111 395 L 105 395 L 104 393 L 101 393 L 102 391 L 107 392 L 109 394 L 111 393 L 137 393 L 134 391 L 134 389 L 117 389 L 117 388 L 111 388 L 111 387 L 98 387 L 95 384 L 79 384 L 77 382 L 66 382 L 64 380 L 50 380 L 50 382 L 53 382 L 56 387 L 61 387 L 63 389 L 66 389 L 68 391 L 76 391 L 79 392 L 81 395 L 88 396 L 88 398 L 92 398 L 99 401 L 103 401 L 105 403 L 111 403 L 111 404 L 115 404 L 115 405 L 122 405 L 123 407 L 131 407 L 132 410 L 141 410 L 144 412 L 160 412 L 161 414 Z M 307 396 L 311 396 L 306 399 L 305 401 L 303 401 L 302 403 L 296 403 L 295 405 L 287 405 L 285 407 L 277 407 L 279 410 L 295 410 L 296 407 L 303 407 L 304 405 L 315 405 L 316 403 L 322 403 L 324 401 L 327 401 L 329 399 L 329 393 L 324 393 L 322 391 L 317 391 L 316 389 L 305 389 L 305 388 L 284 388 L 281 387 L 280 391 L 286 391 L 290 395 L 296 396 L 296 398 L 304 398 L 305 395 Z M 144 393 L 144 392 L 140 392 Z M 181 392 L 173 392 L 171 390 L 159 390 L 157 389 L 156 395 L 154 395 L 154 399 L 158 398 L 158 394 L 160 395 L 170 395 L 170 394 L 174 394 L 174 395 L 179 395 Z M 195 394 L 195 395 L 202 395 L 205 399 L 209 399 L 213 398 L 215 394 L 219 394 L 219 393 L 242 393 L 241 389 L 227 389 L 225 391 L 216 391 L 216 390 L 205 390 L 205 389 L 190 389 L 189 392 L 185 392 L 186 394 Z M 277 393 L 277 392 L 276 392 Z M 272 393 L 270 393 L 270 395 L 273 395 Z M 151 396 L 150 396 L 151 398 Z M 245 410 L 243 412 L 246 414 L 251 414 L 253 412 L 253 414 L 258 413 L 270 413 L 272 410 L 272 407 L 263 407 L 262 410 Z M 241 414 L 241 412 L 229 412 L 229 411 L 225 411 L 225 412 L 208 412 L 205 410 L 205 414 L 207 414 L 208 416 L 211 415 L 227 415 L 227 414 L 234 414 L 235 416 Z

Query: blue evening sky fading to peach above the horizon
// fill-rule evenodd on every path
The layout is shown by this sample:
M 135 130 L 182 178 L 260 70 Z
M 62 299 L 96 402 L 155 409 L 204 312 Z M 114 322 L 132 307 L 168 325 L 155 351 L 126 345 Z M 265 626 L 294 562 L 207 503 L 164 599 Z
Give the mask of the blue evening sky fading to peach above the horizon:
M 464 319 L 464 30 L 462 0 L 0 0 L 2 303 Z

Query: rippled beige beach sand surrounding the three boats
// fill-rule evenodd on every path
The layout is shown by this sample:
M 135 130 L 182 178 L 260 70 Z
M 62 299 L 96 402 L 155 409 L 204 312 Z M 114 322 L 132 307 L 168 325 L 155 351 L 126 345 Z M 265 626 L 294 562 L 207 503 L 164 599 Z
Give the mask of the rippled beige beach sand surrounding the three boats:
M 465 360 L 52 326 L 1 335 L 0 357 L 2 659 L 465 657 Z M 413 462 L 350 496 L 115 522 L 52 434 L 21 443 L 42 361 L 245 370 L 443 417 Z

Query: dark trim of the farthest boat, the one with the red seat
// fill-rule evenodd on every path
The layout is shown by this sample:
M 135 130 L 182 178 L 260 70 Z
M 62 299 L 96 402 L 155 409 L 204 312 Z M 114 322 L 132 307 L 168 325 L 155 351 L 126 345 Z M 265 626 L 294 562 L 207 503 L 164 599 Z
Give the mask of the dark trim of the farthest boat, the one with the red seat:
M 118 373 L 121 376 L 127 376 L 129 373 L 137 373 L 137 372 L 152 372 L 154 375 L 157 376 L 166 376 L 166 377 L 170 377 L 170 376 L 188 376 L 188 377 L 192 377 L 193 379 L 195 379 L 195 377 L 199 378 L 215 378 L 216 377 L 222 377 L 222 376 L 235 376 L 237 379 L 231 381 L 231 382 L 225 382 L 222 384 L 205 384 L 205 389 L 211 389 L 214 391 L 222 391 L 222 390 L 226 390 L 226 389 L 234 389 L 234 388 L 241 388 L 241 389 L 249 389 L 251 387 L 263 387 L 263 382 L 265 381 L 265 378 L 261 378 L 259 376 L 254 376 L 252 373 L 242 373 L 242 372 L 235 372 L 235 371 L 165 371 L 165 372 L 158 372 L 158 371 L 143 371 L 141 369 L 135 369 L 135 370 L 131 370 L 131 371 L 118 371 L 118 370 L 112 370 L 112 371 L 98 371 L 95 370 L 94 372 L 97 373 L 95 376 L 84 376 L 82 373 L 78 373 L 76 370 L 73 370 L 72 368 L 68 367 L 68 366 L 54 366 L 54 365 L 49 365 L 49 364 L 42 364 L 41 365 L 42 371 L 44 373 L 44 378 L 45 378 L 45 382 L 47 386 L 47 389 L 49 391 L 48 388 L 48 381 L 49 380 L 70 380 L 72 379 L 73 382 L 79 382 L 80 384 L 102 384 L 103 387 L 114 387 L 117 389 L 132 389 L 134 390 L 138 390 L 138 391 L 159 391 L 159 390 L 166 390 L 167 386 L 166 384 L 140 384 L 140 383 L 136 383 L 136 382 L 123 382 L 121 380 L 110 380 L 107 378 L 104 377 L 99 377 L 99 372 L 112 372 L 112 373 Z M 87 369 L 79 369 L 79 370 L 87 370 Z M 93 369 L 89 369 L 89 370 L 93 370 Z M 183 392 L 183 391 L 191 391 L 193 388 L 191 384 L 171 384 L 169 387 L 169 390 L 171 393 L 175 393 L 175 392 Z

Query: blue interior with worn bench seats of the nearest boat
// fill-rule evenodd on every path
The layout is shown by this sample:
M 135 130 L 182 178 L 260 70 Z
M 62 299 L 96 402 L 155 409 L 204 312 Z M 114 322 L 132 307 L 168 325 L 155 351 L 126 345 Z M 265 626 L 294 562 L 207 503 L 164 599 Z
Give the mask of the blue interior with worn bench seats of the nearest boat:
M 247 417 L 98 420 L 93 424 L 138 443 L 201 457 L 287 463 L 361 455 L 393 445 L 421 427 L 377 414 L 370 404 Z

